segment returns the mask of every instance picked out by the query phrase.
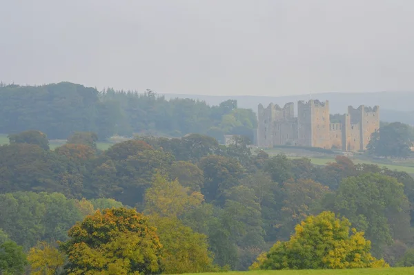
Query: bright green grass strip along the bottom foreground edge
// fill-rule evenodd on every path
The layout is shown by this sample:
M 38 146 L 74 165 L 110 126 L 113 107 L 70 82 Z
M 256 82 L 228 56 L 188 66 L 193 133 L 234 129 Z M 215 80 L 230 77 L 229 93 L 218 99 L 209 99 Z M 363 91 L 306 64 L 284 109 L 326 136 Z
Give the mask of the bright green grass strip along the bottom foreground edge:
M 217 274 L 217 273 L 202 273 L 206 274 Z M 414 267 L 398 267 L 398 268 L 366 268 L 366 269 L 314 269 L 314 270 L 272 270 L 272 271 L 250 271 L 250 272 L 225 272 L 219 274 L 228 275 L 404 275 L 414 274 Z M 194 273 L 195 275 L 195 273 Z M 199 274 L 201 275 L 201 274 Z

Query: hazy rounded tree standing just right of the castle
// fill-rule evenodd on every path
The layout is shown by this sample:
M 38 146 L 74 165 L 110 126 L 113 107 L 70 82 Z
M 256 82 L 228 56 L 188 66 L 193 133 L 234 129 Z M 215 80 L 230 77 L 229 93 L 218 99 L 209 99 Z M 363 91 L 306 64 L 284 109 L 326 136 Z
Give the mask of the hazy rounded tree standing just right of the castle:
M 393 122 L 373 133 L 366 147 L 368 153 L 386 157 L 406 158 L 413 146 L 412 130 L 407 124 Z

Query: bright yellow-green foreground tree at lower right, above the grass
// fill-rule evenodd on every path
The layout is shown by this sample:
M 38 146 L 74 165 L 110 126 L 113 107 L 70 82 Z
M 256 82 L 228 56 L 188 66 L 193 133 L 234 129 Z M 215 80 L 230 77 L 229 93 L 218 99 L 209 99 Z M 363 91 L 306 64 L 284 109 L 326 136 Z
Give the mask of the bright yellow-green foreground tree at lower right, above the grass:
M 324 211 L 308 216 L 286 242 L 277 242 L 253 267 L 259 269 L 346 269 L 389 267 L 370 254 L 371 242 L 352 229 L 346 218 Z

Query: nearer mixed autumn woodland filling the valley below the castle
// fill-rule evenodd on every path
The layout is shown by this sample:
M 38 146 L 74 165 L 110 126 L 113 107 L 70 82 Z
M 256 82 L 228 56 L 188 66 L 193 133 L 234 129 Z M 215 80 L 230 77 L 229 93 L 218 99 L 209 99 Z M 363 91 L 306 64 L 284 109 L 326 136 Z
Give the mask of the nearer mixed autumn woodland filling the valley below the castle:
M 42 259 L 71 274 L 413 264 L 414 180 L 405 172 L 344 156 L 319 167 L 252 152 L 238 137 L 223 146 L 199 134 L 137 136 L 106 151 L 88 132 L 54 150 L 41 131 L 9 138 L 0 146 L 0 241 L 32 272 L 52 266 Z M 337 237 L 319 238 L 329 234 L 315 228 L 329 222 Z M 278 262 L 301 245 L 321 247 L 319 258 Z M 356 254 L 360 264 L 349 260 Z

